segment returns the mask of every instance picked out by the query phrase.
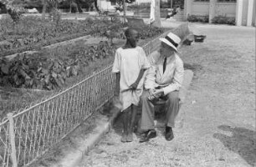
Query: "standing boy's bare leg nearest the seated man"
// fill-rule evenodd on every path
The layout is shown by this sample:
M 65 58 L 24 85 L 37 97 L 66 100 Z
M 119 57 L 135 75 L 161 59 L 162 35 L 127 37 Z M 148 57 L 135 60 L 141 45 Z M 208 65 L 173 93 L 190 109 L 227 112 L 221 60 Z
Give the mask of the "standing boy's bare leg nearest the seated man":
M 131 113 L 130 113 L 130 124 L 128 126 L 128 135 L 127 135 L 127 142 L 133 141 L 133 130 L 134 130 L 134 125 L 136 122 L 136 115 L 137 115 L 137 106 L 132 104 L 131 105 Z

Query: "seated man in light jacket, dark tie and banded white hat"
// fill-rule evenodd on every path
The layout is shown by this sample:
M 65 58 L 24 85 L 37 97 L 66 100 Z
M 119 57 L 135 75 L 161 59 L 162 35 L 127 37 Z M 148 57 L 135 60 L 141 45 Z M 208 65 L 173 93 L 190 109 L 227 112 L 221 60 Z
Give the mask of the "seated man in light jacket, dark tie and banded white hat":
M 160 40 L 160 50 L 148 56 L 152 66 L 146 73 L 145 90 L 141 97 L 141 129 L 145 132 L 140 142 L 156 137 L 154 104 L 160 99 L 166 100 L 166 140 L 174 138 L 172 128 L 179 110 L 178 94 L 184 75 L 182 59 L 177 55 L 181 39 L 174 33 L 168 33 L 166 38 Z

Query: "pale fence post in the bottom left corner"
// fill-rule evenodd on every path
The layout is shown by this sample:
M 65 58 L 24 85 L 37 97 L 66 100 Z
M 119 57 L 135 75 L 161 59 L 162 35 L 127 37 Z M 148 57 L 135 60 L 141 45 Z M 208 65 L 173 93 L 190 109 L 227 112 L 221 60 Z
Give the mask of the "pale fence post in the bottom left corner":
M 11 143 L 11 158 L 13 162 L 13 167 L 17 167 L 17 157 L 16 157 L 16 147 L 15 147 L 15 134 L 14 134 L 14 124 L 13 124 L 13 113 L 8 114 L 9 121 L 9 141 Z

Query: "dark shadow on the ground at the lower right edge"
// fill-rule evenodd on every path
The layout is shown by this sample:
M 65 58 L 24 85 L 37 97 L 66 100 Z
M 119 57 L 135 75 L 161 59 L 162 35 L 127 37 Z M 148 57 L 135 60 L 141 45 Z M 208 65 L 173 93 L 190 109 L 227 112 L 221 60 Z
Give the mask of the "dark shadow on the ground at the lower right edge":
M 220 125 L 218 129 L 232 133 L 213 134 L 215 139 L 223 142 L 224 146 L 234 153 L 239 154 L 248 164 L 256 166 L 256 132 L 250 129 Z

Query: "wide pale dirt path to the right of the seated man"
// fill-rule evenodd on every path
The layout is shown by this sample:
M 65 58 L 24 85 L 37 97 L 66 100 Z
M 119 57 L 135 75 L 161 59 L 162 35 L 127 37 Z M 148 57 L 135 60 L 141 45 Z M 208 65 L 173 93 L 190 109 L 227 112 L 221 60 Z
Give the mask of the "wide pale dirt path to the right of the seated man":
M 117 123 L 77 166 L 256 166 L 255 29 L 193 25 L 207 38 L 182 49 L 197 70 L 175 139 L 158 128 L 148 143 L 123 144 Z

